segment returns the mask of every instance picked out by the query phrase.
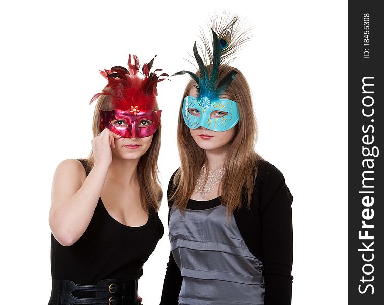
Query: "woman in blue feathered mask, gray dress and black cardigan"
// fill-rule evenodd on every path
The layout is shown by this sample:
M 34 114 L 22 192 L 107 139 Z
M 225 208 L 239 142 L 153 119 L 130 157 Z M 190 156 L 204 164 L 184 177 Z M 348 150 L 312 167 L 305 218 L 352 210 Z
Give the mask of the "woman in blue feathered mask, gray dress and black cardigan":
M 213 26 L 208 64 L 189 71 L 168 186 L 170 261 L 161 304 L 291 304 L 292 195 L 259 156 L 248 83 L 226 63 L 238 19 Z

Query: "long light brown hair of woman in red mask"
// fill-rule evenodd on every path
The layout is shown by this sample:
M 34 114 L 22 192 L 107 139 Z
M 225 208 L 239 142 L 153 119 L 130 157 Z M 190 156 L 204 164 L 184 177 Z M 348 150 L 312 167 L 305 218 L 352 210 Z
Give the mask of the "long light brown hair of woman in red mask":
M 104 90 L 110 91 L 109 88 Z M 93 136 L 96 137 L 100 132 L 100 113 L 101 110 L 112 110 L 111 97 L 101 95 L 98 98 L 93 115 Z M 157 103 L 153 110 L 158 110 Z M 137 165 L 137 176 L 140 185 L 140 200 L 143 210 L 146 212 L 156 212 L 160 208 L 160 202 L 163 197 L 163 191 L 158 180 L 157 159 L 160 151 L 161 126 L 153 134 L 152 143 L 146 153 L 140 157 Z M 87 161 L 87 167 L 90 169 L 94 165 L 93 151 L 90 152 Z

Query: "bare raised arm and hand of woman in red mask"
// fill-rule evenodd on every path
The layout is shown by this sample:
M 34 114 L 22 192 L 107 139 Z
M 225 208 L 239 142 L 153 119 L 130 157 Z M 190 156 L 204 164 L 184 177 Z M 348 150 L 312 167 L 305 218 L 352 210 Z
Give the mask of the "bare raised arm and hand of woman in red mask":
M 63 246 L 73 245 L 87 229 L 102 191 L 112 161 L 113 137 L 105 129 L 92 140 L 95 156 L 93 169 L 86 176 L 82 164 L 74 159 L 61 162 L 52 183 L 49 225 L 53 236 Z

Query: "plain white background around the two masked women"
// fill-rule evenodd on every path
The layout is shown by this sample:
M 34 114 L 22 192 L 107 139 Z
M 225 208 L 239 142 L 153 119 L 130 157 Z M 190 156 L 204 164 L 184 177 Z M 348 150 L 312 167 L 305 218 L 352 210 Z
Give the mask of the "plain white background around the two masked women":
M 346 304 L 348 8 L 329 0 L 3 2 L 2 303 L 48 303 L 51 181 L 60 161 L 91 149 L 88 102 L 105 85 L 99 70 L 126 66 L 128 53 L 142 63 L 158 54 L 154 67 L 170 74 L 193 69 L 183 58 L 208 14 L 221 8 L 253 26 L 233 65 L 252 89 L 256 149 L 283 172 L 294 196 L 292 304 Z M 179 166 L 176 120 L 187 81 L 158 85 L 164 192 Z M 169 256 L 165 198 L 166 232 L 139 283 L 145 305 L 159 301 Z

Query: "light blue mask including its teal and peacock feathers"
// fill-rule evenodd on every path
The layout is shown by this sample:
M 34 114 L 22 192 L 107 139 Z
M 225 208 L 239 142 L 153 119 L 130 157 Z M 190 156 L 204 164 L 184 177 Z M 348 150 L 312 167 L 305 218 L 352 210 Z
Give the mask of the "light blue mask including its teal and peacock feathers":
M 220 67 L 228 65 L 237 49 L 248 40 L 246 34 L 248 30 L 239 31 L 238 20 L 237 16 L 228 21 L 219 19 L 216 22 L 217 30 L 211 28 L 212 39 L 203 36 L 203 44 L 209 59 L 206 63 L 199 55 L 195 42 L 193 50 L 199 67 L 197 73 L 183 70 L 173 74 L 189 74 L 196 83 L 197 97 L 186 96 L 182 107 L 185 124 L 191 129 L 202 126 L 212 131 L 226 131 L 239 121 L 237 103 L 220 98 L 225 95 L 228 86 L 238 73 L 235 69 L 229 70 L 230 66 L 220 72 Z M 210 41 L 213 50 L 208 46 Z

